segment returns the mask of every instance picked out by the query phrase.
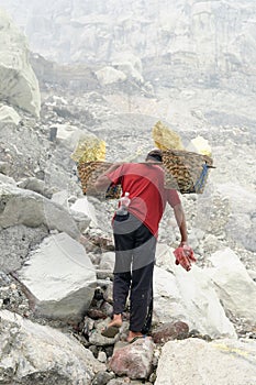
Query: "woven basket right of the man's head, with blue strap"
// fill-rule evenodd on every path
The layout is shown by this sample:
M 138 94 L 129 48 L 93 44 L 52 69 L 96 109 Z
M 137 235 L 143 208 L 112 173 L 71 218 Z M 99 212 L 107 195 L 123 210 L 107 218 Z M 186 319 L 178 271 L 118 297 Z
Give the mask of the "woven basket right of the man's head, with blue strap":
M 202 194 L 212 164 L 208 155 L 185 150 L 163 151 L 165 187 L 175 188 L 181 194 Z

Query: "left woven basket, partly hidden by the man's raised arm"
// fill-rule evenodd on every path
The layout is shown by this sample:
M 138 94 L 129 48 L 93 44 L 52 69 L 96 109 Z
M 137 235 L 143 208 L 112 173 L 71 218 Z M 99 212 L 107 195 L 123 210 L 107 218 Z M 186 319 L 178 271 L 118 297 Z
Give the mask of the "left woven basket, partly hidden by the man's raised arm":
M 108 162 L 80 162 L 77 165 L 79 179 L 81 182 L 82 193 L 99 199 L 119 199 L 121 186 L 110 185 L 105 193 L 97 191 L 94 188 L 96 179 L 111 166 Z

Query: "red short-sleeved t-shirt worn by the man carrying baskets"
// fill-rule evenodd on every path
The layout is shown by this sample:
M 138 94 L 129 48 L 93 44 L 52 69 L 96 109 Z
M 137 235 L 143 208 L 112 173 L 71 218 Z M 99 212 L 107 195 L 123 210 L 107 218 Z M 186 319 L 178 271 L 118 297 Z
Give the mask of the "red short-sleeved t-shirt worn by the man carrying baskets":
M 151 163 L 124 163 L 107 176 L 122 186 L 123 195 L 130 193 L 129 211 L 157 237 L 166 202 L 171 207 L 180 204 L 175 189 L 164 188 L 163 168 Z

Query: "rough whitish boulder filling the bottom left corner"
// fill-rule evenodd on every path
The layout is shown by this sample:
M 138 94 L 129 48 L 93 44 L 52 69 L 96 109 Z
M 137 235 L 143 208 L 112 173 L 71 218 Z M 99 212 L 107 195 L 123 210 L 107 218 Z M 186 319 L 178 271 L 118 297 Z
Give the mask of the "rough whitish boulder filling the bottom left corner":
M 104 370 L 71 336 L 0 311 L 1 384 L 89 385 Z

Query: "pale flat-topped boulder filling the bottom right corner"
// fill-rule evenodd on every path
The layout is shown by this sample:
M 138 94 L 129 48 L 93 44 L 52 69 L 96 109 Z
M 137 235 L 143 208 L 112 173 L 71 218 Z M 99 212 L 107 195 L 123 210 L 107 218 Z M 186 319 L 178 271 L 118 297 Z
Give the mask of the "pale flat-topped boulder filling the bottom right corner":
M 253 340 L 169 341 L 162 351 L 155 385 L 253 385 L 255 354 Z

